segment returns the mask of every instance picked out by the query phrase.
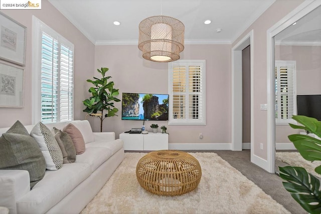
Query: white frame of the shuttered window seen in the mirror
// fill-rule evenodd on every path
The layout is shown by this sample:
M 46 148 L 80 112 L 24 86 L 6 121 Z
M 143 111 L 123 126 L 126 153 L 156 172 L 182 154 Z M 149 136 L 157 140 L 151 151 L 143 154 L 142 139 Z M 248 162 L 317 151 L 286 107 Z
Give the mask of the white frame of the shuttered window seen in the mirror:
M 281 66 L 291 66 L 292 67 L 292 74 L 291 74 L 291 78 L 292 78 L 292 81 L 293 81 L 293 113 L 292 115 L 296 115 L 297 114 L 297 108 L 296 108 L 296 61 L 290 61 L 290 60 L 276 60 L 275 61 L 275 69 L 277 67 L 281 67 Z M 279 71 L 277 71 L 279 72 Z M 280 74 L 278 73 L 277 76 L 279 76 Z M 280 90 L 278 90 L 278 92 L 276 92 L 276 84 L 277 84 L 277 80 L 274 84 L 274 90 L 275 90 L 275 99 L 276 99 L 276 96 L 278 97 L 278 100 L 280 100 Z M 276 103 L 276 101 L 275 101 Z M 275 107 L 274 107 L 275 108 Z M 276 108 L 275 108 L 275 113 L 276 113 Z M 289 123 L 292 123 L 292 124 L 296 124 L 296 121 L 293 120 L 292 118 L 285 118 L 285 119 L 282 119 L 282 118 L 278 118 L 275 116 L 275 124 L 276 125 L 288 125 Z

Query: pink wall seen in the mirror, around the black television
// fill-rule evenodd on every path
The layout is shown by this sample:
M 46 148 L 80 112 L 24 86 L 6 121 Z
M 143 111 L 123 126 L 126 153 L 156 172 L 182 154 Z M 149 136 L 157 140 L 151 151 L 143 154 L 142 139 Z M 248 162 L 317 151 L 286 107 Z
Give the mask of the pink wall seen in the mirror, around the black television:
M 275 46 L 275 60 L 296 61 L 296 94 L 321 94 L 321 46 Z M 302 130 L 276 125 L 275 142 L 292 143 L 288 135 Z

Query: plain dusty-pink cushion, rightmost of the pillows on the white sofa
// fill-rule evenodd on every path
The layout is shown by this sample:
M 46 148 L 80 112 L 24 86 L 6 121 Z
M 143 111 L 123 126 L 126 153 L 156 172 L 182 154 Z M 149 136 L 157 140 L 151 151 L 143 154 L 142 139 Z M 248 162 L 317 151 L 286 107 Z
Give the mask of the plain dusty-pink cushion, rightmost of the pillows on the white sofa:
M 76 154 L 82 154 L 85 152 L 85 141 L 84 138 L 79 131 L 79 129 L 72 123 L 69 123 L 63 129 L 64 132 L 67 132 L 72 139 L 72 142 L 76 148 Z

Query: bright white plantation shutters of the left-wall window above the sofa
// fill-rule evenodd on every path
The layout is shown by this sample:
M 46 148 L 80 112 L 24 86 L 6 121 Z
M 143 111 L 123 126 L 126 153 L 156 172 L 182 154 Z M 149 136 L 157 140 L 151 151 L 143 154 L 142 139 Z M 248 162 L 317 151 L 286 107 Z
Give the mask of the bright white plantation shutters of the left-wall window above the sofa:
M 73 50 L 42 32 L 41 121 L 71 121 L 73 117 Z

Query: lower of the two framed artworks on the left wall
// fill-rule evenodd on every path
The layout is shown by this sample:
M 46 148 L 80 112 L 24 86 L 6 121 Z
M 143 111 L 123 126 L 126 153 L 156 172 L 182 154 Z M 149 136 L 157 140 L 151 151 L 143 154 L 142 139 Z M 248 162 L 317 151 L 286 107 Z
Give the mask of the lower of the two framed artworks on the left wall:
M 0 107 L 23 107 L 24 70 L 0 62 Z

